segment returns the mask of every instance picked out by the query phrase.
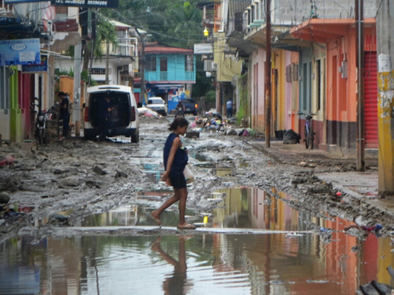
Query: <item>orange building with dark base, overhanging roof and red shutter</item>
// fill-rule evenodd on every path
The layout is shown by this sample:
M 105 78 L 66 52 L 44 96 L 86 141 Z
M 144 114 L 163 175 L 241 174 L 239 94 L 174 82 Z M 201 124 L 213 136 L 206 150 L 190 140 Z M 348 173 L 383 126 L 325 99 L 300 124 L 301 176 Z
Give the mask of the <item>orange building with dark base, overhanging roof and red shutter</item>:
M 375 23 L 375 18 L 364 19 L 365 147 L 370 149 L 378 147 Z M 308 103 L 301 106 L 303 84 L 300 82 L 300 109 L 303 107 L 305 110 L 317 113 L 316 120 L 313 120 L 316 146 L 326 150 L 339 149 L 343 153 L 355 151 L 357 138 L 355 20 L 309 19 L 291 29 L 290 34 L 310 44 L 309 51 L 312 56 L 309 66 L 310 85 L 305 83 L 310 92 L 305 96 Z M 325 56 L 321 56 L 322 52 Z M 300 73 L 302 76 L 302 69 Z M 305 120 L 301 119 L 300 126 L 304 123 Z

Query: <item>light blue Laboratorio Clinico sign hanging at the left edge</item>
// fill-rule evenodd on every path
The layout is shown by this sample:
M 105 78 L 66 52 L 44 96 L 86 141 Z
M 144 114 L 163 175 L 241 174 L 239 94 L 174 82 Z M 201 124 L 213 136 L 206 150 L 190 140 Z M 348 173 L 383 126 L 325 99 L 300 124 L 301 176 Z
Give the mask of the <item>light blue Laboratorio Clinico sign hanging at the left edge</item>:
M 40 39 L 0 40 L 0 66 L 41 64 Z

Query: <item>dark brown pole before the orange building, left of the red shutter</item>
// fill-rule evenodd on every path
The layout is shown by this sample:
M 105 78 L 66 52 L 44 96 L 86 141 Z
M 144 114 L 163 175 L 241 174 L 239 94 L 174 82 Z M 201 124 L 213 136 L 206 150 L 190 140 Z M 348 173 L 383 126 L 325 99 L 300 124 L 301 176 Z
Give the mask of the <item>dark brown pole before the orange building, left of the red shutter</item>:
M 364 103 L 364 0 L 355 0 L 357 61 L 357 171 L 365 170 L 365 103 Z

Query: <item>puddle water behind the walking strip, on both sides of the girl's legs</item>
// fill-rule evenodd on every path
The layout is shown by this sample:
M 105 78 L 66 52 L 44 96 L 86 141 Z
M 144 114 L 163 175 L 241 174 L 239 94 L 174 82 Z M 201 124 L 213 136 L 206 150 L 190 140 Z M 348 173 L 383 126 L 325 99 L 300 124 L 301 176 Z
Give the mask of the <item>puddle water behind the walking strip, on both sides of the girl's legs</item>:
M 130 226 L 155 225 L 150 213 L 159 207 L 167 197 L 168 191 L 139 192 L 136 199 L 127 205 L 113 208 L 106 213 L 86 217 L 76 224 L 80 226 Z M 239 187 L 218 189 L 203 202 L 215 204 L 212 212 L 186 212 L 186 219 L 198 226 L 216 228 L 253 228 L 283 231 L 307 231 L 311 228 L 323 230 L 344 230 L 354 225 L 353 222 L 336 218 L 318 218 L 308 212 L 299 212 L 291 208 L 284 200 L 291 197 L 278 193 L 282 199 L 271 197 L 258 188 Z M 177 204 L 172 209 L 176 210 Z M 179 215 L 165 210 L 161 220 L 163 226 L 178 225 Z

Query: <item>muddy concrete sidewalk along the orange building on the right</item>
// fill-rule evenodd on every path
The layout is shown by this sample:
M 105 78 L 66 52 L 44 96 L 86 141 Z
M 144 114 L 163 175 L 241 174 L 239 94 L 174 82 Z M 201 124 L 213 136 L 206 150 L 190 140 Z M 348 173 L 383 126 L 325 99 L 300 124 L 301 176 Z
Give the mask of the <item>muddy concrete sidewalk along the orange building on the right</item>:
M 305 149 L 304 144 L 283 144 L 283 141 L 271 141 L 267 148 L 265 141 L 248 139 L 248 143 L 277 162 L 299 163 L 314 169 L 319 161 L 343 161 L 356 167 L 356 155 L 343 156 L 328 153 L 323 150 Z M 376 151 L 366 151 L 365 158 L 368 170 L 366 172 L 319 172 L 314 174 L 320 180 L 331 183 L 339 192 L 360 199 L 367 204 L 379 207 L 387 214 L 394 216 L 394 198 L 379 197 L 378 192 L 378 156 Z

